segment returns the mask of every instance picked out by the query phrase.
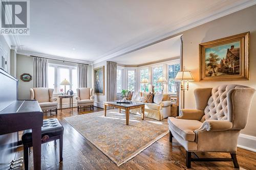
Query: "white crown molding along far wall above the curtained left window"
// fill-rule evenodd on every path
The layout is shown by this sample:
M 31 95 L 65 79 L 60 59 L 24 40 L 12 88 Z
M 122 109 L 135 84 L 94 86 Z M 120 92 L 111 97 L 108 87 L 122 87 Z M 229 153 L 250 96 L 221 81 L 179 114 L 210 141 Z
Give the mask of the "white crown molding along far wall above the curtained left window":
M 17 54 L 25 55 L 25 56 L 38 56 L 38 57 L 44 57 L 44 58 L 49 58 L 49 59 L 55 59 L 55 60 L 63 60 L 63 61 L 70 61 L 70 62 L 77 62 L 77 63 L 82 63 L 82 64 L 89 64 L 92 65 L 92 62 L 89 61 L 84 61 L 84 60 L 75 60 L 67 57 L 61 57 L 61 56 L 56 56 L 56 55 L 50 55 L 50 54 L 44 54 L 44 53 L 36 53 L 36 52 L 30 52 L 30 51 L 22 51 L 18 50 Z

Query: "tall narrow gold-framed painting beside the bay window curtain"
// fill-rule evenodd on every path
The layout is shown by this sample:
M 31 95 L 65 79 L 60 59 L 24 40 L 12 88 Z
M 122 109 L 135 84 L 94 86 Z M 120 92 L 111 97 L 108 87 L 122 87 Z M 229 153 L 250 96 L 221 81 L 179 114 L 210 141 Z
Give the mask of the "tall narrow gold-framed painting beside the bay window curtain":
M 94 69 L 94 93 L 104 95 L 104 66 Z

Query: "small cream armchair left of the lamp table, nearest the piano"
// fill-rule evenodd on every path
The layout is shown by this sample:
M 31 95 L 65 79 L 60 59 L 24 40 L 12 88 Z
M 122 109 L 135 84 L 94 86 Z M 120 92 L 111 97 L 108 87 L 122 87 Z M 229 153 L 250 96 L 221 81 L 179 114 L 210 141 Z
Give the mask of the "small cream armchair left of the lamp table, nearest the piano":
M 55 111 L 57 115 L 57 98 L 53 98 L 52 88 L 38 87 L 30 89 L 30 99 L 37 100 L 42 111 L 52 112 Z

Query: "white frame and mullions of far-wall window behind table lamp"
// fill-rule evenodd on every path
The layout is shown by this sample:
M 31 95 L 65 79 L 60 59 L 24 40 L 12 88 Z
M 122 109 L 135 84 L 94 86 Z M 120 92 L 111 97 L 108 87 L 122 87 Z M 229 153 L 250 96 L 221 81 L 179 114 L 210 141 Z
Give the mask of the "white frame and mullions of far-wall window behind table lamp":
M 58 84 L 58 68 L 68 68 L 69 69 L 69 80 L 70 80 L 70 85 L 69 87 L 67 86 L 67 90 L 72 88 L 72 69 L 77 69 L 76 66 L 70 66 L 70 65 L 61 65 L 61 64 L 53 64 L 53 63 L 48 63 L 48 67 L 54 67 L 54 93 L 53 94 L 60 94 L 59 93 L 59 84 Z M 76 90 L 73 90 L 74 95 L 76 95 Z

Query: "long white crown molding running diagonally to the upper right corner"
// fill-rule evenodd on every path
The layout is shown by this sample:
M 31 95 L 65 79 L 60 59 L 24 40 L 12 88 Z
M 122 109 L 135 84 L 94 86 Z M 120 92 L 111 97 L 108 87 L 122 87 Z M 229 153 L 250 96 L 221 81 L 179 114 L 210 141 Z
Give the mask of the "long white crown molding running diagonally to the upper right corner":
M 249 0 L 249 1 L 246 1 L 242 4 L 239 4 L 237 6 L 231 7 L 229 9 L 225 9 L 225 10 L 223 10 L 223 11 L 217 13 L 217 14 L 214 14 L 214 15 L 211 15 L 209 17 L 205 17 L 201 20 L 198 20 L 196 22 L 190 23 L 189 25 L 186 25 L 186 26 L 181 27 L 179 29 L 176 29 L 174 31 L 164 33 L 164 34 L 162 34 L 158 37 L 155 37 L 155 38 L 152 38 L 152 39 L 147 39 L 143 42 L 135 43 L 135 44 L 130 45 L 130 46 L 120 47 L 119 49 L 116 48 L 113 51 L 110 51 L 108 53 L 105 53 L 105 54 L 99 56 L 100 59 L 95 60 L 93 62 L 93 64 L 97 64 L 99 62 L 109 60 L 109 59 L 114 58 L 114 57 L 120 57 L 120 56 L 123 56 L 123 55 L 128 54 L 128 53 L 132 53 L 134 51 L 140 50 L 141 48 L 144 48 L 144 47 L 156 44 L 158 42 L 164 41 L 166 39 L 172 38 L 172 36 L 177 35 L 179 33 L 182 33 L 183 31 L 189 30 L 191 28 L 195 28 L 197 26 L 203 25 L 204 23 L 207 23 L 209 21 L 218 19 L 220 17 L 226 16 L 226 15 L 231 14 L 231 13 L 240 11 L 242 9 L 248 8 L 248 7 L 253 6 L 255 4 L 256 4 L 255 0 Z M 189 18 L 191 18 L 191 16 L 196 16 L 196 15 L 202 14 L 204 11 L 205 11 L 205 9 L 202 10 L 201 12 L 196 12 L 193 15 L 184 17 L 181 20 L 177 21 L 177 23 L 181 23 L 185 20 L 188 20 Z M 168 28 L 168 27 L 166 27 L 166 28 Z

